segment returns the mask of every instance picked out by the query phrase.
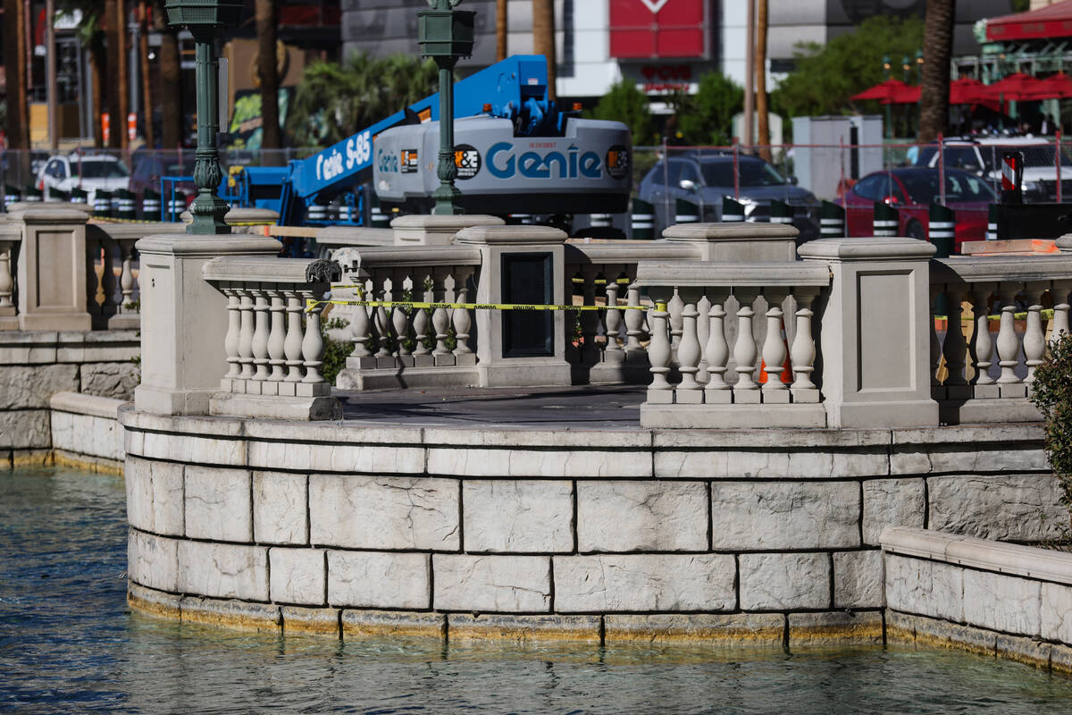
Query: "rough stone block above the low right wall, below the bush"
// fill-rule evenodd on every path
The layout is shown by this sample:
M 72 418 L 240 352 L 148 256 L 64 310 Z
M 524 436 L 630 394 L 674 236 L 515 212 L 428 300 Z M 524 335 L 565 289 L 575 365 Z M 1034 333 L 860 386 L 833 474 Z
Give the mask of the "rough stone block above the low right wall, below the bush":
M 1056 537 L 1068 523 L 1060 487 L 1049 474 L 963 475 L 927 479 L 928 528 L 984 539 Z

